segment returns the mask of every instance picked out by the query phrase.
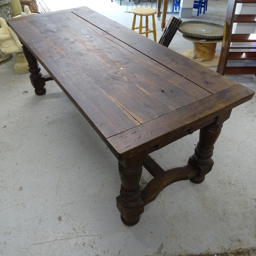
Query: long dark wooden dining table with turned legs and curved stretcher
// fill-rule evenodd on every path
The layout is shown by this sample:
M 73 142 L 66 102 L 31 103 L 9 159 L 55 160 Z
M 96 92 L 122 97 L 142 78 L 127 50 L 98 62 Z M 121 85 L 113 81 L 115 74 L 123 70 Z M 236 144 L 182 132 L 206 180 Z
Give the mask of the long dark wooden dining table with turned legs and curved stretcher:
M 168 185 L 204 181 L 223 122 L 254 94 L 87 7 L 7 22 L 23 44 L 38 100 L 54 80 L 117 158 L 116 202 L 125 225 L 135 225 Z M 34 112 L 44 118 L 39 108 Z M 197 130 L 195 153 L 182 167 L 164 170 L 150 156 Z M 152 180 L 140 190 L 143 166 Z

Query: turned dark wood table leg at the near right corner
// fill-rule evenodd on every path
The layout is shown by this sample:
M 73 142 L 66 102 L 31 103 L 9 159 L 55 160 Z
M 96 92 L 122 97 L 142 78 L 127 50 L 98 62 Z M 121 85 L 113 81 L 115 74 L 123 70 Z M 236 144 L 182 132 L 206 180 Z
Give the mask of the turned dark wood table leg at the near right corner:
M 214 144 L 221 133 L 221 124 L 209 124 L 200 129 L 199 142 L 195 148 L 195 154 L 191 156 L 188 163 L 199 170 L 197 176 L 190 179 L 193 183 L 201 183 L 205 175 L 210 172 L 214 161 L 211 159 L 214 154 Z

